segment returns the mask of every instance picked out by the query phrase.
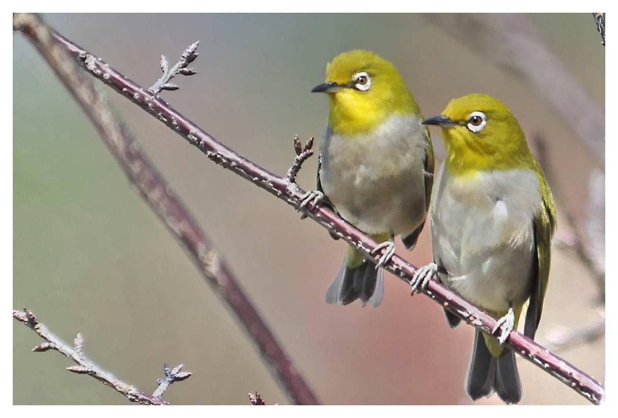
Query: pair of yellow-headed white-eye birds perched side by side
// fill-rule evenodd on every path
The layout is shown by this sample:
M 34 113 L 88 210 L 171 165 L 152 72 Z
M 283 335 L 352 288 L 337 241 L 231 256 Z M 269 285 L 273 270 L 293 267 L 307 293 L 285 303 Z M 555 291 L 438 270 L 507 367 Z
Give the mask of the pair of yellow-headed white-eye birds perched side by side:
M 485 94 L 451 100 L 423 120 L 396 68 L 373 52 L 338 55 L 326 68 L 330 113 L 318 163 L 318 198 L 382 244 L 378 266 L 348 247 L 326 292 L 328 303 L 360 299 L 378 306 L 394 236 L 411 250 L 431 195 L 434 263 L 418 270 L 413 289 L 434 273 L 462 297 L 499 318 L 499 341 L 477 329 L 467 377 L 473 400 L 493 391 L 521 398 L 514 354 L 502 344 L 529 300 L 524 334 L 535 335 L 549 279 L 554 203 L 522 129 L 506 105 Z M 447 157 L 433 182 L 433 148 L 425 125 L 438 125 Z M 433 186 L 433 194 L 431 192 Z M 451 327 L 460 320 L 445 309 Z

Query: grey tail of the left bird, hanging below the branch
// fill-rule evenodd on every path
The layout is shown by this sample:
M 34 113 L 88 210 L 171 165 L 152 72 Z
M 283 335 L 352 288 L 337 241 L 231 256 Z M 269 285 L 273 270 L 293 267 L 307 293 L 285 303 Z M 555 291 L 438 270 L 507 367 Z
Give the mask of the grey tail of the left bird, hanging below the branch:
M 347 260 L 339 269 L 339 273 L 326 290 L 326 303 L 348 305 L 360 299 L 365 306 L 367 302 L 374 308 L 382 302 L 384 296 L 384 269 L 376 269 L 376 264 L 365 260 L 360 266 L 350 269 Z

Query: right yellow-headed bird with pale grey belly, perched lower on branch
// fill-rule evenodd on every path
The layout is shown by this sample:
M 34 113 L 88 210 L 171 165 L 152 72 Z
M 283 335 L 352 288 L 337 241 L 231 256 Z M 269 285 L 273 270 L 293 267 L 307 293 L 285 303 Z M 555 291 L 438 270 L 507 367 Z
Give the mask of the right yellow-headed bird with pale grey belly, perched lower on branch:
M 522 385 L 515 355 L 502 345 L 526 301 L 527 337 L 535 337 L 541 319 L 556 229 L 551 191 L 500 100 L 468 94 L 423 123 L 441 128 L 447 157 L 431 203 L 434 263 L 417 271 L 412 289 L 437 272 L 447 287 L 499 318 L 499 340 L 476 329 L 466 388 L 473 400 L 495 391 L 505 403 L 517 403 Z M 445 313 L 451 327 L 459 324 Z

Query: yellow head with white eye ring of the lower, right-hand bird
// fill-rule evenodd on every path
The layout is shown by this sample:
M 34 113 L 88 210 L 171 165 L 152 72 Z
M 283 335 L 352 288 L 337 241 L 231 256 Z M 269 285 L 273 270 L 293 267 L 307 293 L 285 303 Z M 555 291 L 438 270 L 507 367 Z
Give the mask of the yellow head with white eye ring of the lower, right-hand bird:
M 452 99 L 441 115 L 425 125 L 442 131 L 451 173 L 474 174 L 477 170 L 539 170 L 522 128 L 509 108 L 487 94 L 468 94 Z

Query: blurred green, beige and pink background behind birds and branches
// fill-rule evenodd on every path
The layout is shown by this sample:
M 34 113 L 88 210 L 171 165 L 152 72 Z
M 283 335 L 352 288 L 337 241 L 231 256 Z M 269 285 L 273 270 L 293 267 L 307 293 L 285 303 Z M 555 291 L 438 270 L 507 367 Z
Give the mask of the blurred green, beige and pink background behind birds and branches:
M 605 50 L 590 13 L 529 15 L 541 39 L 604 112 Z M 292 137 L 316 137 L 328 100 L 310 94 L 326 63 L 370 49 L 404 76 L 425 117 L 470 92 L 504 101 L 530 140 L 543 137 L 556 175 L 559 233 L 565 211 L 585 227 L 588 182 L 604 170 L 535 88 L 424 14 L 45 14 L 44 20 L 144 87 L 199 40 L 175 92 L 161 96 L 239 154 L 284 175 Z M 95 363 L 151 392 L 163 363 L 193 376 L 164 398 L 174 404 L 288 404 L 252 342 L 184 251 L 127 183 L 90 121 L 22 33 L 13 36 L 13 308 L 26 306 L 66 342 L 77 332 Z M 98 83 L 98 82 L 97 82 Z M 213 239 L 297 369 L 324 404 L 471 404 L 464 390 L 473 328 L 451 330 L 440 306 L 410 298 L 387 274 L 378 309 L 331 306 L 324 292 L 344 257 L 311 220 L 205 158 L 195 147 L 111 89 L 122 115 L 169 186 Z M 444 146 L 432 129 L 438 160 Z M 298 184 L 315 188 L 317 158 Z M 562 205 L 562 206 L 561 206 Z M 568 229 L 568 228 L 567 228 Z M 426 226 L 417 248 L 399 255 L 431 261 Z M 598 288 L 570 250 L 554 248 L 536 340 L 600 318 Z M 54 351 L 14 321 L 14 404 L 128 404 L 95 379 L 67 372 Z M 604 379 L 604 337 L 559 351 Z M 518 357 L 522 404 L 588 404 Z M 478 401 L 500 404 L 495 396 Z

